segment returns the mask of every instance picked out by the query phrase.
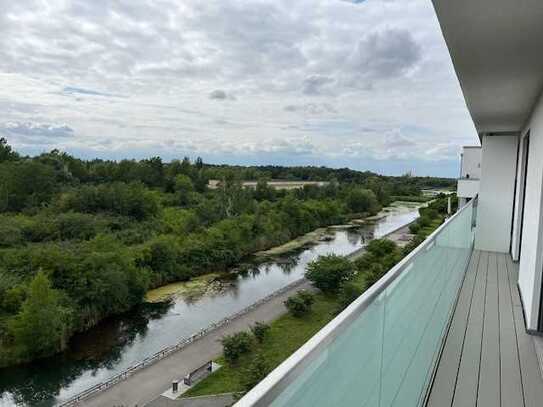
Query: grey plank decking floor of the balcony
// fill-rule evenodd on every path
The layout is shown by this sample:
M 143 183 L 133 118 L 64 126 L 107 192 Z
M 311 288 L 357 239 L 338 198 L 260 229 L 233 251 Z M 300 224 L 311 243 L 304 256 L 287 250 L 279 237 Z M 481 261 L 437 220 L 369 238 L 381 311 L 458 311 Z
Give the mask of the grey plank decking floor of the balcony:
M 474 251 L 427 407 L 536 407 L 543 379 L 509 255 Z

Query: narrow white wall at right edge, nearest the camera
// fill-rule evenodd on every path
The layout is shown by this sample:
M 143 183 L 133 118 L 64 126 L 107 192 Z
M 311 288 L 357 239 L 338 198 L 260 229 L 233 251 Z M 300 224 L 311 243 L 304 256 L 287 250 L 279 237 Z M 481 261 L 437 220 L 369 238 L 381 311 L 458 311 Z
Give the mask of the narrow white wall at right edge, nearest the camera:
M 527 328 L 537 329 L 541 295 L 542 186 L 543 186 L 543 103 L 539 100 L 523 134 L 530 132 L 530 151 L 526 174 L 526 203 L 519 267 L 519 289 Z M 520 161 L 519 161 L 520 162 Z M 519 179 L 519 183 L 522 180 Z M 518 190 L 519 188 L 517 188 Z M 518 214 L 517 214 L 518 217 Z M 515 219 L 515 223 L 519 219 Z

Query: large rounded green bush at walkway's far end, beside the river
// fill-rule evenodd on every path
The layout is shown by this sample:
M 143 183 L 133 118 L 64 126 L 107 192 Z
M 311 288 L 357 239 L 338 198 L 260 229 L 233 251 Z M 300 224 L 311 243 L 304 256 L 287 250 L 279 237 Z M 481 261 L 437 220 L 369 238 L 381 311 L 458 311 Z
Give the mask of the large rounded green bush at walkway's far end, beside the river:
M 341 285 L 354 275 L 354 266 L 343 256 L 329 254 L 319 256 L 307 265 L 305 276 L 324 292 L 338 290 Z

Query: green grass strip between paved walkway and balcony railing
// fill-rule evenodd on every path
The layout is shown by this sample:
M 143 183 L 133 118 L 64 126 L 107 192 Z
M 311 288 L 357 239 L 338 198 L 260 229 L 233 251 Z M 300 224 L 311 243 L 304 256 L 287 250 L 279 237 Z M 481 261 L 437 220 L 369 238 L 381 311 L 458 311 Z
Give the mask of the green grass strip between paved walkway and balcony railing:
M 279 317 L 270 324 L 271 329 L 264 341 L 261 344 L 255 341 L 250 354 L 242 357 L 234 366 L 219 358 L 216 362 L 223 367 L 196 384 L 183 397 L 244 391 L 246 369 L 255 355 L 262 355 L 270 371 L 273 370 L 330 322 L 336 316 L 338 305 L 335 296 L 316 294 L 308 315 L 303 318 L 290 314 Z

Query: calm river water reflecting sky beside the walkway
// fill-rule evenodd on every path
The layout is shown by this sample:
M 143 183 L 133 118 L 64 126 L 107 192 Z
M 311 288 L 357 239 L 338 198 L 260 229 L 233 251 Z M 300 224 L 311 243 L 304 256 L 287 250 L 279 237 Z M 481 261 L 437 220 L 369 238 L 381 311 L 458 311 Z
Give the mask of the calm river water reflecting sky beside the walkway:
M 302 278 L 307 263 L 319 255 L 349 254 L 418 216 L 416 207 L 394 207 L 385 213 L 373 224 L 331 229 L 331 240 L 233 275 L 212 293 L 143 304 L 110 318 L 76 335 L 59 356 L 0 369 L 0 406 L 53 406 Z

